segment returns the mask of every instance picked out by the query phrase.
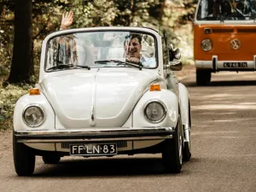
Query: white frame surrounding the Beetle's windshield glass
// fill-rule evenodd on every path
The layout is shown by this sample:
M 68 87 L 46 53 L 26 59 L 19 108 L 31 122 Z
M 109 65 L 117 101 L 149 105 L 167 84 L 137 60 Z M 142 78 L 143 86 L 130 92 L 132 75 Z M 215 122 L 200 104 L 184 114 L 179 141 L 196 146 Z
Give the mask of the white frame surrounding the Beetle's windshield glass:
M 140 30 L 140 29 L 141 30 Z M 151 28 L 145 28 L 145 30 L 142 30 L 144 28 L 142 27 L 112 27 L 111 29 L 106 29 L 106 27 L 96 27 L 96 28 L 90 28 L 86 30 L 86 28 L 79 28 L 79 29 L 68 29 L 68 30 L 63 30 L 60 32 L 57 32 L 55 35 L 51 34 L 51 37 L 47 39 L 46 44 L 45 44 L 45 53 L 44 53 L 44 73 L 52 73 L 52 72 L 60 72 L 60 71 L 66 71 L 66 70 L 71 70 L 71 69 L 76 69 L 76 68 L 67 68 L 64 70 L 55 70 L 55 71 L 49 71 L 47 70 L 47 56 L 48 56 L 48 50 L 49 50 L 49 42 L 57 37 L 61 36 L 66 36 L 66 35 L 72 35 L 72 34 L 77 34 L 77 33 L 86 33 L 86 32 L 134 32 L 134 33 L 142 33 L 142 34 L 147 34 L 150 35 L 152 38 L 154 38 L 154 51 L 155 51 L 155 61 L 156 65 L 155 67 L 143 67 L 143 69 L 156 69 L 160 66 L 160 61 L 159 61 L 159 49 L 158 49 L 158 38 L 154 34 L 156 32 L 154 29 Z M 154 31 L 154 32 L 148 32 L 148 31 Z M 55 33 L 55 32 L 54 32 Z M 157 33 L 158 34 L 158 33 Z M 116 66 L 118 67 L 118 66 Z M 115 68 L 116 68 L 115 67 Z M 103 68 L 102 66 L 99 67 L 90 67 L 90 68 Z

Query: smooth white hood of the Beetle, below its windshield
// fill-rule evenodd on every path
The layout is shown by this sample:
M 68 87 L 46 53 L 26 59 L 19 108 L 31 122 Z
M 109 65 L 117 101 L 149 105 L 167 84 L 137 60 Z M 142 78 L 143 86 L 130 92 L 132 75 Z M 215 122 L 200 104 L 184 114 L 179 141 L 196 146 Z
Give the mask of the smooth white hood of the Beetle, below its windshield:
M 74 71 L 74 70 L 73 70 Z M 65 128 L 121 127 L 158 73 L 82 71 L 43 79 L 44 94 Z

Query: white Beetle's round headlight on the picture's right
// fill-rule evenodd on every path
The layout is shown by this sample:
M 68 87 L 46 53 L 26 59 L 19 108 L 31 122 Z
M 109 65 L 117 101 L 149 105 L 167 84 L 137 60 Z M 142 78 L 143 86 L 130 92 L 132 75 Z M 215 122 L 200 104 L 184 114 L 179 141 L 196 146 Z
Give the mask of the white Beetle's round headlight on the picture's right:
M 144 114 L 146 119 L 152 123 L 159 123 L 162 119 L 166 117 L 166 107 L 163 103 L 148 102 L 145 107 Z

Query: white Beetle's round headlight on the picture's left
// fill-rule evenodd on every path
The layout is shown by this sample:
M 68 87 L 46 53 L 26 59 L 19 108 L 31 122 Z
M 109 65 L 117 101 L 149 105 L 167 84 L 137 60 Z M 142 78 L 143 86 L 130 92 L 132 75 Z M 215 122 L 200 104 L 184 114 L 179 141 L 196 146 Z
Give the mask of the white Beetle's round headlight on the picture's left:
M 38 106 L 30 106 L 23 113 L 23 119 L 26 125 L 38 126 L 44 122 L 44 111 Z

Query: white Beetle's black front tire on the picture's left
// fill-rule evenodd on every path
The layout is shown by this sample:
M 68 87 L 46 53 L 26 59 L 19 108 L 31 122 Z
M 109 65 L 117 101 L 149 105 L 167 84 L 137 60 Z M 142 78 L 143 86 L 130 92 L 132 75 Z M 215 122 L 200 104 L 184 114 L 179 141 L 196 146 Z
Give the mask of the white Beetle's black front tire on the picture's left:
M 36 156 L 24 143 L 17 143 L 13 134 L 13 155 L 15 172 L 18 176 L 30 176 L 35 170 Z

